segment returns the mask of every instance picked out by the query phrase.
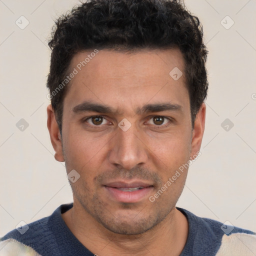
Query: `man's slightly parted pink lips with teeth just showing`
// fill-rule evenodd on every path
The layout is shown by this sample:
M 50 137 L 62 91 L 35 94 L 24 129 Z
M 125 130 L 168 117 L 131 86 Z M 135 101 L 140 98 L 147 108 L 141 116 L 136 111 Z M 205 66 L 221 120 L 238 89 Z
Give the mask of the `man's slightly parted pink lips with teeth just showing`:
M 142 201 L 149 196 L 153 189 L 153 185 L 143 181 L 134 181 L 130 183 L 117 181 L 103 185 L 108 198 L 126 203 L 134 203 Z

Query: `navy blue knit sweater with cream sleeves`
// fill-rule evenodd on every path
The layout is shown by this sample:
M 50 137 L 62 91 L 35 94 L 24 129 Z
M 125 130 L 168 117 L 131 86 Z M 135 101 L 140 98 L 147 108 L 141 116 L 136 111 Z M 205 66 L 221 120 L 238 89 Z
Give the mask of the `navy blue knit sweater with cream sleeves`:
M 72 207 L 60 205 L 50 216 L 17 227 L 0 239 L 0 256 L 93 256 L 66 226 L 61 217 Z M 188 220 L 188 237 L 180 256 L 256 255 L 256 233 L 201 218 L 176 207 Z

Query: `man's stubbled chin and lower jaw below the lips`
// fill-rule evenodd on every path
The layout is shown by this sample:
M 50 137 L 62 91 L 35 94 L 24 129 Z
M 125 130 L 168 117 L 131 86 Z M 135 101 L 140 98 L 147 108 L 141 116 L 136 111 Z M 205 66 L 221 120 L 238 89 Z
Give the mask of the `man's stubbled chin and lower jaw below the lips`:
M 142 234 L 154 228 L 158 223 L 166 218 L 172 207 L 134 207 L 133 204 L 122 203 L 111 205 L 103 203 L 97 195 L 88 200 L 84 194 L 76 193 L 76 198 L 83 209 L 90 214 L 98 223 L 107 230 L 123 235 Z M 93 202 L 93 203 L 92 203 Z

